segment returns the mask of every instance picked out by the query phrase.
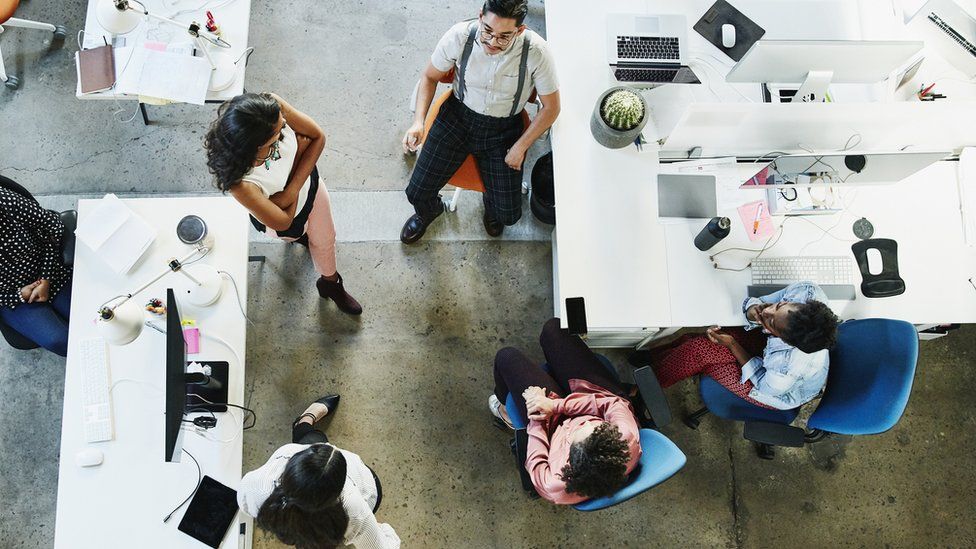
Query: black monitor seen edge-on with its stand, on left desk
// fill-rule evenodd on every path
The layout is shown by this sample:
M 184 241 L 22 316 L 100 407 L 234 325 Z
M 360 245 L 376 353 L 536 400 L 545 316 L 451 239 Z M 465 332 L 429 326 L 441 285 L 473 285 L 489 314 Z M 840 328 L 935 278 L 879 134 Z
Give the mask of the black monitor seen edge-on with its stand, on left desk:
M 214 363 L 217 364 L 217 363 Z M 192 372 L 187 373 L 186 340 L 183 337 L 183 321 L 180 318 L 176 293 L 172 288 L 166 290 L 166 444 L 165 460 L 179 462 L 183 452 L 183 416 L 187 413 L 187 397 L 190 394 L 199 395 L 203 399 L 194 398 L 189 402 L 190 410 L 208 409 L 221 412 L 227 409 L 227 380 L 226 363 L 219 371 L 212 371 L 212 375 Z M 217 403 L 214 406 L 209 403 Z

